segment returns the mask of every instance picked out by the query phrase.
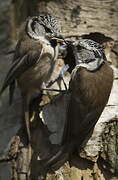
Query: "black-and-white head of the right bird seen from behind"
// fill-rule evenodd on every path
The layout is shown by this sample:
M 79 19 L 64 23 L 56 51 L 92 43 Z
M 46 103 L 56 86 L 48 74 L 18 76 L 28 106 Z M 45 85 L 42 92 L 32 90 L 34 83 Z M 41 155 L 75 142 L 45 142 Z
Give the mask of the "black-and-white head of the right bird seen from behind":
M 66 63 L 70 66 L 84 67 L 88 71 L 97 71 L 106 61 L 103 47 L 95 41 L 81 39 L 78 41 L 66 40 Z

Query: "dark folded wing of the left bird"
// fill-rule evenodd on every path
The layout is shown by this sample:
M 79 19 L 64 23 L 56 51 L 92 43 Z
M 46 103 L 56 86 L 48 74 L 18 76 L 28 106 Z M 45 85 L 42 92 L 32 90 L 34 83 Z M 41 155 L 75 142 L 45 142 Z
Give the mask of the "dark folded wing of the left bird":
M 0 95 L 4 92 L 4 90 L 10 86 L 14 86 L 14 81 L 20 77 L 22 73 L 27 71 L 30 67 L 32 67 L 34 64 L 36 64 L 40 60 L 42 48 L 39 48 L 38 51 L 23 53 L 23 55 L 19 55 L 17 59 L 15 59 L 12 63 L 11 68 L 9 69 L 6 78 L 4 80 L 3 86 L 0 90 Z M 13 92 L 10 92 L 11 96 L 13 96 Z

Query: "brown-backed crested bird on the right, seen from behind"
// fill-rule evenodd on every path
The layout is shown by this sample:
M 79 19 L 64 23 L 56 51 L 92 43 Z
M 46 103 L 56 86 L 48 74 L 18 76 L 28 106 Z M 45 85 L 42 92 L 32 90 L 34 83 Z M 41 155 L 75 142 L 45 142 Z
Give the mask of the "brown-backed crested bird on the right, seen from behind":
M 65 63 L 70 66 L 71 95 L 62 144 L 45 164 L 54 169 L 60 159 L 66 156 L 67 160 L 90 137 L 108 102 L 113 84 L 113 70 L 107 63 L 103 48 L 92 40 L 68 41 Z

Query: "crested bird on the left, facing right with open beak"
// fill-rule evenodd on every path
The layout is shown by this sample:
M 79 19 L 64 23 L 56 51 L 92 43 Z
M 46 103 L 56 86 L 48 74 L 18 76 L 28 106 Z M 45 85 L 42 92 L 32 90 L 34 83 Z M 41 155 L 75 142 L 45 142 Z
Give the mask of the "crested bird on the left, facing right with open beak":
M 61 26 L 48 13 L 28 17 L 19 28 L 19 38 L 14 50 L 12 65 L 5 77 L 0 95 L 9 87 L 9 101 L 12 103 L 16 84 L 22 99 L 23 111 L 30 142 L 29 104 L 35 94 L 41 94 L 53 72 L 58 57 Z

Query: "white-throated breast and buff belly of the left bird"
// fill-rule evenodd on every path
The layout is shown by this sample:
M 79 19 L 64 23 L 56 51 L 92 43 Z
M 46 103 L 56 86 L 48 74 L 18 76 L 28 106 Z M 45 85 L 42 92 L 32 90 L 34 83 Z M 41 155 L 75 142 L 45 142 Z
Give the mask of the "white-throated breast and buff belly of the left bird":
M 18 79 L 18 85 L 23 93 L 38 93 L 42 83 L 47 82 L 54 68 L 54 49 L 50 45 L 43 47 L 37 64 L 25 71 Z

